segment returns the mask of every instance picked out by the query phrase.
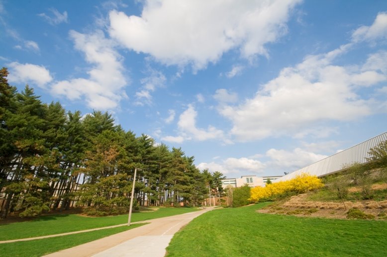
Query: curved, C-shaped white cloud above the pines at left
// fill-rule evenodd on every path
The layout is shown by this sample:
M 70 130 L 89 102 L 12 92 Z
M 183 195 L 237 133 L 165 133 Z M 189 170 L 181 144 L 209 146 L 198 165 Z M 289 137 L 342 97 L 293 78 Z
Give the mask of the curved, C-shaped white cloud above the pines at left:
M 90 108 L 112 110 L 122 98 L 126 98 L 123 88 L 127 84 L 123 75 L 122 57 L 113 49 L 110 40 L 102 31 L 82 34 L 70 31 L 75 49 L 85 54 L 85 59 L 93 67 L 87 72 L 89 78 L 74 78 L 58 81 L 52 85 L 55 95 L 64 95 L 71 100 L 85 98 Z

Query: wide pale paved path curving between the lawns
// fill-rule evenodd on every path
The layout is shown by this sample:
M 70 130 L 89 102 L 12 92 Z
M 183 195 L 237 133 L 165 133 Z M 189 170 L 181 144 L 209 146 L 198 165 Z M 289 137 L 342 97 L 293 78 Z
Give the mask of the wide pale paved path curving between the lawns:
M 165 248 L 173 235 L 195 217 L 212 210 L 189 212 L 185 214 L 146 220 L 150 224 L 98 239 L 83 245 L 65 249 L 47 257 L 163 257 Z

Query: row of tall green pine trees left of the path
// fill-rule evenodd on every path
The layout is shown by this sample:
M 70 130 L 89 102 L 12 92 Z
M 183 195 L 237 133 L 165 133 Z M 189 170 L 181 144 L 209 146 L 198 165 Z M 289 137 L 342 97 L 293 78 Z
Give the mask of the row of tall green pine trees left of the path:
M 17 92 L 0 70 L 1 217 L 18 211 L 86 206 L 90 214 L 128 209 L 134 169 L 138 205 L 198 205 L 221 188 L 221 173 L 200 172 L 194 157 L 153 138 L 136 136 L 99 111 L 82 117 L 45 104 L 25 87 Z

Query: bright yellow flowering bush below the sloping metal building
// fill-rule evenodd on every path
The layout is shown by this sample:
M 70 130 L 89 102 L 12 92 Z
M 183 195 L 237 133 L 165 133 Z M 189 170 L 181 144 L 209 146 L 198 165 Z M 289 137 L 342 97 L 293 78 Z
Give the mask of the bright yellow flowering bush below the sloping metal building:
M 251 190 L 250 200 L 259 201 L 262 198 L 269 198 L 284 193 L 305 193 L 310 190 L 322 188 L 321 180 L 317 176 L 310 176 L 307 173 L 297 175 L 294 179 L 280 181 L 266 185 L 266 187 L 255 187 Z

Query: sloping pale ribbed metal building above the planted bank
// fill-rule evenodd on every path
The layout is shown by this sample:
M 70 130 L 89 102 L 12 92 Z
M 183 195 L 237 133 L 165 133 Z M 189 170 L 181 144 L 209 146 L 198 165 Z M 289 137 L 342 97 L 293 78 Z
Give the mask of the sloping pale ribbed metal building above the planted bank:
M 275 182 L 293 179 L 295 176 L 300 175 L 301 173 L 308 173 L 310 175 L 316 175 L 317 177 L 324 177 L 326 175 L 339 172 L 355 162 L 365 163 L 367 162 L 366 158 L 370 157 L 370 154 L 368 153 L 370 149 L 386 140 L 387 132 L 384 132 L 383 134 L 368 139 L 367 141 L 338 152 L 302 169 L 289 173 L 288 175 L 277 179 Z

